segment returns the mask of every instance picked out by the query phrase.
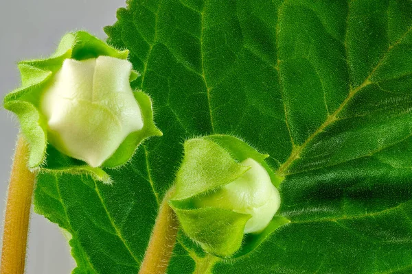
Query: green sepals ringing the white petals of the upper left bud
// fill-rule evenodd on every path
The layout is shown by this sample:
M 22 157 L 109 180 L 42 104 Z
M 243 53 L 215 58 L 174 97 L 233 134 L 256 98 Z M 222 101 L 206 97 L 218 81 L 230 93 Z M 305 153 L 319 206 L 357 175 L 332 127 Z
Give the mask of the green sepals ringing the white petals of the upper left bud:
M 68 173 L 86 172 L 95 179 L 110 182 L 110 178 L 102 169 L 91 168 L 87 163 L 70 158 L 47 144 L 47 121 L 39 111 L 39 106 L 43 89 L 47 87 L 54 73 L 62 67 L 65 59 L 85 60 L 107 55 L 126 60 L 128 53 L 128 50 L 117 50 L 91 34 L 80 31 L 63 36 L 56 52 L 49 58 L 19 62 L 22 86 L 6 95 L 3 105 L 5 109 L 14 112 L 19 118 L 21 132 L 30 144 L 28 164 L 31 169 Z M 129 77 L 130 82 L 137 77 L 139 73 L 132 71 Z M 135 98 L 141 106 L 142 116 L 147 125 L 144 125 L 142 132 L 130 134 L 111 158 L 106 160 L 104 166 L 114 167 L 127 162 L 144 138 L 161 135 L 151 120 L 152 105 L 148 96 L 143 92 L 135 92 Z M 119 155 L 121 153 L 126 156 Z

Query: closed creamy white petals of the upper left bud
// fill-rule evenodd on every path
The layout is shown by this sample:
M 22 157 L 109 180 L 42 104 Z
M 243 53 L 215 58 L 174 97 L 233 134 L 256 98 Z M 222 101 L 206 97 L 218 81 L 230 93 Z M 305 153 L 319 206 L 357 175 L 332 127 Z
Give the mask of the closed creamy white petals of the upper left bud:
M 41 97 L 49 142 L 93 167 L 113 155 L 128 134 L 143 127 L 131 71 L 127 60 L 104 55 L 66 59 Z

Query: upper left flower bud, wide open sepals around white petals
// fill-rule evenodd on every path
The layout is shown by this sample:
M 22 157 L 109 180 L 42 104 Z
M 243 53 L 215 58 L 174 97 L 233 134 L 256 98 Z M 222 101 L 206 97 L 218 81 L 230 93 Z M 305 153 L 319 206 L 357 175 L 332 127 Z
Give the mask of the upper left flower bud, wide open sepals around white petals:
M 161 135 L 150 98 L 130 87 L 138 74 L 127 56 L 73 32 L 50 58 L 19 62 L 22 87 L 4 106 L 19 117 L 31 168 L 87 170 L 102 179 L 98 167 L 124 164 L 145 138 Z

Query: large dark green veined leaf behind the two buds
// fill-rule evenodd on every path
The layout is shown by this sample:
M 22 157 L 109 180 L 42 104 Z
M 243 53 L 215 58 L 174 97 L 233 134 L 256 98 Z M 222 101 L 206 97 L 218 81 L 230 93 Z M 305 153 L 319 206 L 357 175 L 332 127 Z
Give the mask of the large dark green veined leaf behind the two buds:
M 130 0 L 117 17 L 108 42 L 164 135 L 113 186 L 39 177 L 36 210 L 72 234 L 78 273 L 137 272 L 183 140 L 207 134 L 270 155 L 291 221 L 212 273 L 412 271 L 411 1 Z M 169 273 L 214 262 L 179 242 Z

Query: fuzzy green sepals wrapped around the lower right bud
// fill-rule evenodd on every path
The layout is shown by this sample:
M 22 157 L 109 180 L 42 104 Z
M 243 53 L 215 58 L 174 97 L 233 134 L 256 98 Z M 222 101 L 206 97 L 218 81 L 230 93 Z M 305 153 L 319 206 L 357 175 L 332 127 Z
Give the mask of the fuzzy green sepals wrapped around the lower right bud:
M 247 158 L 259 162 L 278 188 L 283 177 L 273 173 L 266 164 L 267 154 L 259 153 L 239 138 L 222 134 L 187 140 L 184 150 L 170 206 L 179 217 L 185 234 L 206 252 L 221 258 L 243 256 L 258 247 L 275 229 L 290 223 L 284 216 L 275 215 L 260 234 L 244 235 L 244 225 L 250 215 L 220 208 L 196 208 L 192 203 L 194 197 L 217 190 L 242 176 L 249 166 L 239 162 Z

